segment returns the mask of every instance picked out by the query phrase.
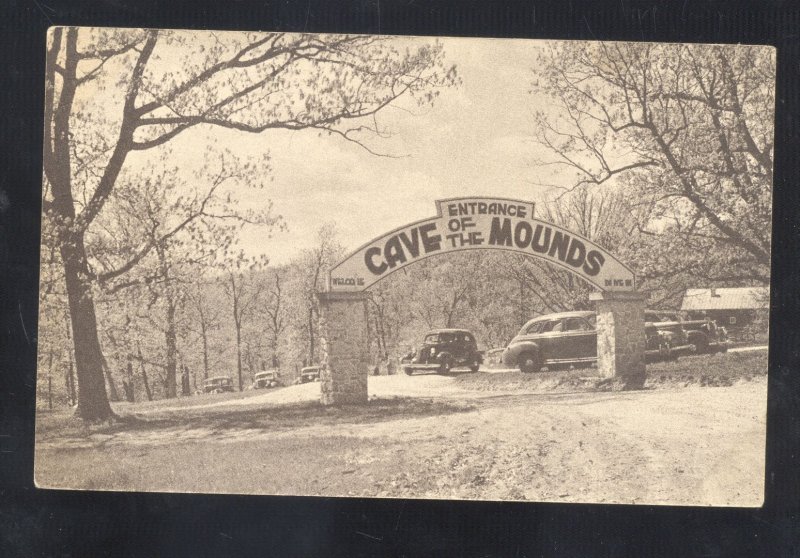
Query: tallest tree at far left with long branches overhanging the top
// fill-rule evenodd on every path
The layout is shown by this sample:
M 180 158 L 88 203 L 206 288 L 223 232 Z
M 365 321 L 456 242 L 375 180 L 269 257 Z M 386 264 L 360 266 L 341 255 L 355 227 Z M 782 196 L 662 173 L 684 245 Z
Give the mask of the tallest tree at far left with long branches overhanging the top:
M 98 271 L 87 234 L 129 159 L 188 130 L 311 129 L 361 143 L 401 96 L 430 103 L 455 83 L 442 48 L 401 52 L 379 37 L 51 29 L 46 52 L 43 207 L 52 223 L 75 340 L 77 415 L 113 416 L 93 285 L 130 271 L 145 245 Z M 211 40 L 208 40 L 211 39 Z M 140 159 L 141 161 L 141 159 Z

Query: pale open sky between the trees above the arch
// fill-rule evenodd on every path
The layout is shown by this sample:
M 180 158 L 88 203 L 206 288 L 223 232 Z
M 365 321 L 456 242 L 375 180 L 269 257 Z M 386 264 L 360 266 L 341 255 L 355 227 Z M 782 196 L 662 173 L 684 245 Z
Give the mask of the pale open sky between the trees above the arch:
M 428 41 L 430 39 L 398 39 Z M 535 201 L 551 183 L 550 171 L 533 163 L 533 112 L 542 104 L 529 93 L 537 51 L 544 42 L 507 39 L 440 39 L 446 60 L 462 83 L 443 90 L 432 107 L 388 108 L 381 123 L 393 132 L 370 147 L 376 157 L 335 136 L 313 131 L 260 135 L 215 130 L 218 144 L 242 154 L 269 151 L 273 180 L 264 189 L 237 194 L 243 206 L 271 200 L 288 230 L 267 239 L 247 228 L 241 245 L 251 255 L 287 263 L 315 244 L 316 231 L 333 222 L 340 242 L 355 249 L 401 225 L 435 214 L 434 200 L 503 196 Z M 202 153 L 197 135 L 176 138 L 178 160 Z

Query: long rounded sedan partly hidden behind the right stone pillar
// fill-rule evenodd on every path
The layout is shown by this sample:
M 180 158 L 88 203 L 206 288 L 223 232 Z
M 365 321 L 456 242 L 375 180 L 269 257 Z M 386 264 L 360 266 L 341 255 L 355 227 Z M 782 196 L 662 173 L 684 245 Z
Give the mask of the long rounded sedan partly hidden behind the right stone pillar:
M 538 372 L 543 366 L 592 364 L 597 361 L 596 314 L 592 311 L 562 312 L 527 322 L 503 352 L 503 364 L 522 372 Z M 672 357 L 672 334 L 645 324 L 645 357 Z

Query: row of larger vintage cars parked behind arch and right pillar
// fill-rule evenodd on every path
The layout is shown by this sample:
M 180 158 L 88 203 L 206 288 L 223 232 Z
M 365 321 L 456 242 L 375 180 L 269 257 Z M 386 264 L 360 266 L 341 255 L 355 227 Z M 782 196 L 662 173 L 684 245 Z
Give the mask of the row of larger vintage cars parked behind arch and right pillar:
M 556 365 L 592 364 L 597 361 L 596 314 L 593 311 L 562 312 L 528 321 L 502 353 L 502 362 L 522 372 L 537 372 Z M 685 321 L 673 312 L 645 313 L 645 358 L 676 359 L 684 354 L 725 352 L 725 329 L 712 320 Z M 437 371 L 466 367 L 477 372 L 484 354 L 474 335 L 464 329 L 428 332 L 419 349 L 401 360 L 403 371 Z

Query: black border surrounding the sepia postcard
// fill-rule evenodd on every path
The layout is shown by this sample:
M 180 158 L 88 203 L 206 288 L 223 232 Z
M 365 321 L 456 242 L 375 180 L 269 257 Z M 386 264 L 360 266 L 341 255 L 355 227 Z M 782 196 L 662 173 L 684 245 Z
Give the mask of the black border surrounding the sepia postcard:
M 780 0 L 4 0 L 0 555 L 800 555 L 800 8 Z M 761 509 L 201 496 L 33 488 L 45 32 L 50 25 L 777 47 L 766 502 Z

